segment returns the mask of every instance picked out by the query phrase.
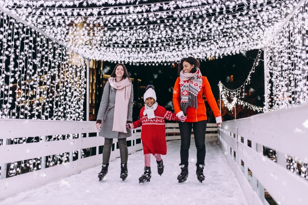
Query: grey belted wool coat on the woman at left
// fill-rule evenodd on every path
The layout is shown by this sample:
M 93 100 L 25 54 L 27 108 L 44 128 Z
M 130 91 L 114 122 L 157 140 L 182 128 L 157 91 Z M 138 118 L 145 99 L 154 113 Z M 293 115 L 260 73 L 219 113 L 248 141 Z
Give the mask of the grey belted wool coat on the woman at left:
M 129 98 L 128 111 L 127 111 L 127 121 L 132 121 L 132 112 L 133 112 L 133 85 L 131 84 L 131 96 Z M 100 128 L 99 136 L 106 138 L 127 138 L 132 136 L 130 129 L 126 128 L 127 133 L 123 132 L 114 132 L 112 131 L 113 125 L 113 116 L 114 116 L 114 104 L 115 104 L 115 94 L 116 89 L 111 87 L 109 82 L 106 83 L 104 87 L 104 92 L 102 100 L 100 101 L 99 111 L 97 114 L 97 120 L 102 120 L 102 126 Z M 124 124 L 126 126 L 126 124 Z

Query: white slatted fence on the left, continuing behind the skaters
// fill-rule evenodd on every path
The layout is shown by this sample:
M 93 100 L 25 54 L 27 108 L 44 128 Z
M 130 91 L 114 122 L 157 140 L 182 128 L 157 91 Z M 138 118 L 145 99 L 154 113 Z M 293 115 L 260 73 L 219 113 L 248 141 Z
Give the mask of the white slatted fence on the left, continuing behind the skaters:
M 216 128 L 215 128 L 216 126 Z M 206 136 L 217 136 L 216 124 L 207 125 Z M 180 130 L 177 123 L 166 123 L 166 140 L 180 139 Z M 141 128 L 133 129 L 132 136 L 127 138 L 131 140 L 128 147 L 128 153 L 136 152 L 142 149 Z M 81 137 L 82 133 L 96 133 L 93 137 Z M 169 135 L 172 134 L 172 136 Z M 67 140 L 56 140 L 9 144 L 9 139 L 35 136 L 52 136 L 69 134 L 71 137 Z M 77 139 L 73 139 L 73 134 L 78 134 Z M 193 136 L 192 136 L 193 137 Z M 98 136 L 95 122 L 89 121 L 60 121 L 60 120 L 21 120 L 21 119 L 0 119 L 0 140 L 3 145 L 0 146 L 0 199 L 9 195 L 24 191 L 26 189 L 54 181 L 64 176 L 75 174 L 81 170 L 91 168 L 102 164 L 102 154 L 99 154 L 99 146 L 104 145 L 104 138 Z M 138 140 L 140 139 L 140 140 Z M 137 142 L 138 141 L 138 142 Z M 120 150 L 117 148 L 115 139 L 114 151 L 111 152 L 110 160 L 120 157 Z M 138 144 L 137 144 L 138 143 Z M 82 158 L 81 149 L 96 147 L 96 155 Z M 73 161 L 73 153 L 78 151 L 78 159 Z M 69 152 L 69 162 L 56 166 L 45 167 L 46 156 Z M 41 169 L 20 175 L 6 178 L 7 163 L 21 160 L 28 160 L 42 157 Z

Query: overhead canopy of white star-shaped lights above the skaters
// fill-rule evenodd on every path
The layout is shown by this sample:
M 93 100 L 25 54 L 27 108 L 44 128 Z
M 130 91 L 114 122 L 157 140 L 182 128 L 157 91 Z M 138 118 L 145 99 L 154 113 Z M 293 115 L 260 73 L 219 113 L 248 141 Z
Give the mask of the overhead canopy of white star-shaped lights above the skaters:
M 260 48 L 298 0 L 1 2 L 87 59 L 166 65 Z

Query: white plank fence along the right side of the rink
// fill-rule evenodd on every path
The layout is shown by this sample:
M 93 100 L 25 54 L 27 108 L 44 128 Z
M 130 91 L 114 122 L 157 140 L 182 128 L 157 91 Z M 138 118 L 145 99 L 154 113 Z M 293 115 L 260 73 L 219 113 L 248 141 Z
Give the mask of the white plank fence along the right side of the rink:
M 218 139 L 248 204 L 267 204 L 264 188 L 278 204 L 308 203 L 308 181 L 286 168 L 284 156 L 307 161 L 307 114 L 308 105 L 302 105 L 222 123 Z M 263 155 L 263 146 L 277 150 L 277 162 Z M 252 185 L 248 181 L 248 168 L 252 172 Z

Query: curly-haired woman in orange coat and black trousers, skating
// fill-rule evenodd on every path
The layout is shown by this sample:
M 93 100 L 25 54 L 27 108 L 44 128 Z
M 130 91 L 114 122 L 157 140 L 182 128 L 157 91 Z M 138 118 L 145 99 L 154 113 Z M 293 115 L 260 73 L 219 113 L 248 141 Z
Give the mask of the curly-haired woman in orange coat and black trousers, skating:
M 197 148 L 197 179 L 202 183 L 205 161 L 205 130 L 206 109 L 202 99 L 205 94 L 210 107 L 216 117 L 216 123 L 220 126 L 221 114 L 213 96 L 209 81 L 201 75 L 200 63 L 193 57 L 183 58 L 178 66 L 179 77 L 176 79 L 173 89 L 173 106 L 177 117 L 187 115 L 185 122 L 179 122 L 181 135 L 181 173 L 177 177 L 179 183 L 186 181 L 188 177 L 188 150 L 190 147 L 191 131 L 193 127 L 194 139 Z

